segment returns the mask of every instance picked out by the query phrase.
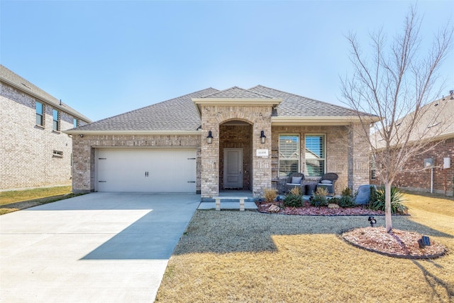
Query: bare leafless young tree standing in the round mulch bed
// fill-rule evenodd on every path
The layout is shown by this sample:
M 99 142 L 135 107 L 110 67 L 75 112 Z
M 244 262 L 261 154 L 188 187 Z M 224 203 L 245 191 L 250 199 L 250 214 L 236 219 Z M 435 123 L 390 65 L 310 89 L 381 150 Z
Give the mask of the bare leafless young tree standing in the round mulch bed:
M 421 18 L 411 6 L 404 22 L 402 35 L 386 47 L 382 30 L 370 35 L 372 51 L 362 53 L 356 36 L 347 36 L 351 48 L 353 74 L 342 79 L 343 101 L 359 112 L 375 114 L 381 120 L 372 126 L 362 123 L 363 134 L 369 138 L 371 152 L 377 161 L 377 174 L 385 187 L 386 230 L 392 231 L 391 187 L 394 178 L 406 162 L 421 153 L 429 142 L 425 140 L 443 131 L 436 126 L 443 113 L 427 106 L 440 96 L 443 84 L 438 68 L 452 48 L 453 28 L 445 26 L 433 38 L 431 49 L 421 51 Z M 430 116 L 431 121 L 426 121 Z M 358 115 L 360 119 L 362 116 Z M 432 125 L 418 128 L 422 121 Z M 367 122 L 367 121 L 365 121 Z

